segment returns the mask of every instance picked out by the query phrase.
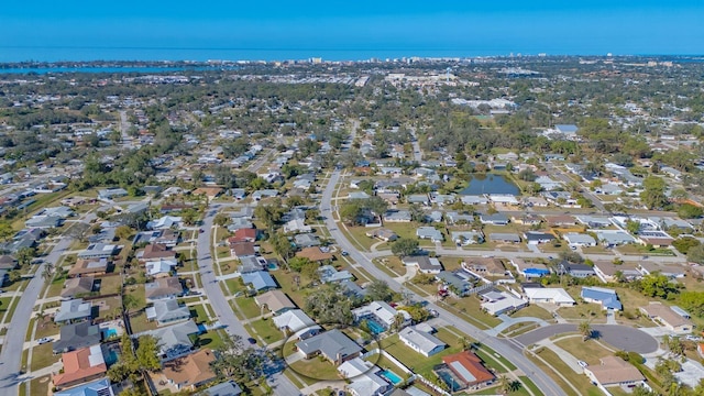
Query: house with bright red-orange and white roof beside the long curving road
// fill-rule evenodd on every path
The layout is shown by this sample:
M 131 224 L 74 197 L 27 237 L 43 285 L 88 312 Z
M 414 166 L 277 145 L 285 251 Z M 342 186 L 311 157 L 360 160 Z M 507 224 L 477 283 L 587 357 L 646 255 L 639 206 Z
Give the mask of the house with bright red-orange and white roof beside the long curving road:
M 494 374 L 490 372 L 482 360 L 470 351 L 442 356 L 442 364 L 433 367 L 452 392 L 466 388 L 479 389 L 494 382 Z M 459 386 L 459 388 L 455 388 Z

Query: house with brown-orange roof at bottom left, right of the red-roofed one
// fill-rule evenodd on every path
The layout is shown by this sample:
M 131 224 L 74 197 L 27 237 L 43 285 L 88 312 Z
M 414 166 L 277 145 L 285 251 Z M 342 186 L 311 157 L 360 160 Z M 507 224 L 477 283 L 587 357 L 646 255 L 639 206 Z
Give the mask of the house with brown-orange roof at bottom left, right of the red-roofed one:
M 178 391 L 195 391 L 198 386 L 217 378 L 211 367 L 215 360 L 211 350 L 202 349 L 164 363 L 162 375 Z

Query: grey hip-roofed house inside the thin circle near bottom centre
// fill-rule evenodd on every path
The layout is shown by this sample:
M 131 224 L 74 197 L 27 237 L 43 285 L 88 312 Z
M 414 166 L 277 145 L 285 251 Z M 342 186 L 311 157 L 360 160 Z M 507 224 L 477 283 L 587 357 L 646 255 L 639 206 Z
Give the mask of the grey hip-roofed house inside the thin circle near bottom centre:
M 321 355 L 338 365 L 359 356 L 362 352 L 362 346 L 338 329 L 299 341 L 296 343 L 296 349 L 305 359 Z

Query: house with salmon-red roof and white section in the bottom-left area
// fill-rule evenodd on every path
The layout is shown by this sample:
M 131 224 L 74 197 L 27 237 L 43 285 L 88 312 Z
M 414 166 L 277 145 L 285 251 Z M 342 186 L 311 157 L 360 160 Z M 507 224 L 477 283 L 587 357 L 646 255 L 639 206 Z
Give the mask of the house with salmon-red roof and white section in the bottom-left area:
M 54 374 L 52 382 L 57 389 L 69 388 L 105 376 L 108 371 L 100 345 L 82 348 L 62 354 L 64 369 Z

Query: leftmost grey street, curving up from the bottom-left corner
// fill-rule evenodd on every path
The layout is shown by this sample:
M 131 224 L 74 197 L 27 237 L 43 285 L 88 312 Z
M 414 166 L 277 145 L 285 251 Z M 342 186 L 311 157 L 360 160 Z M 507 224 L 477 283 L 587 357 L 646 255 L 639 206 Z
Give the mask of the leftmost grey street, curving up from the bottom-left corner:
M 74 242 L 70 238 L 61 238 L 59 242 L 52 249 L 51 253 L 44 257 L 42 264 L 40 264 L 34 276 L 28 287 L 22 293 L 22 298 L 18 302 L 18 307 L 12 315 L 12 321 L 8 328 L 8 333 L 4 337 L 2 343 L 2 352 L 0 353 L 0 395 L 16 395 L 19 383 L 24 380 L 20 376 L 20 364 L 22 361 L 22 348 L 24 345 L 24 338 L 32 319 L 32 308 L 44 288 L 44 278 L 42 273 L 44 272 L 45 262 L 56 265 L 62 253 L 68 250 L 68 246 Z

